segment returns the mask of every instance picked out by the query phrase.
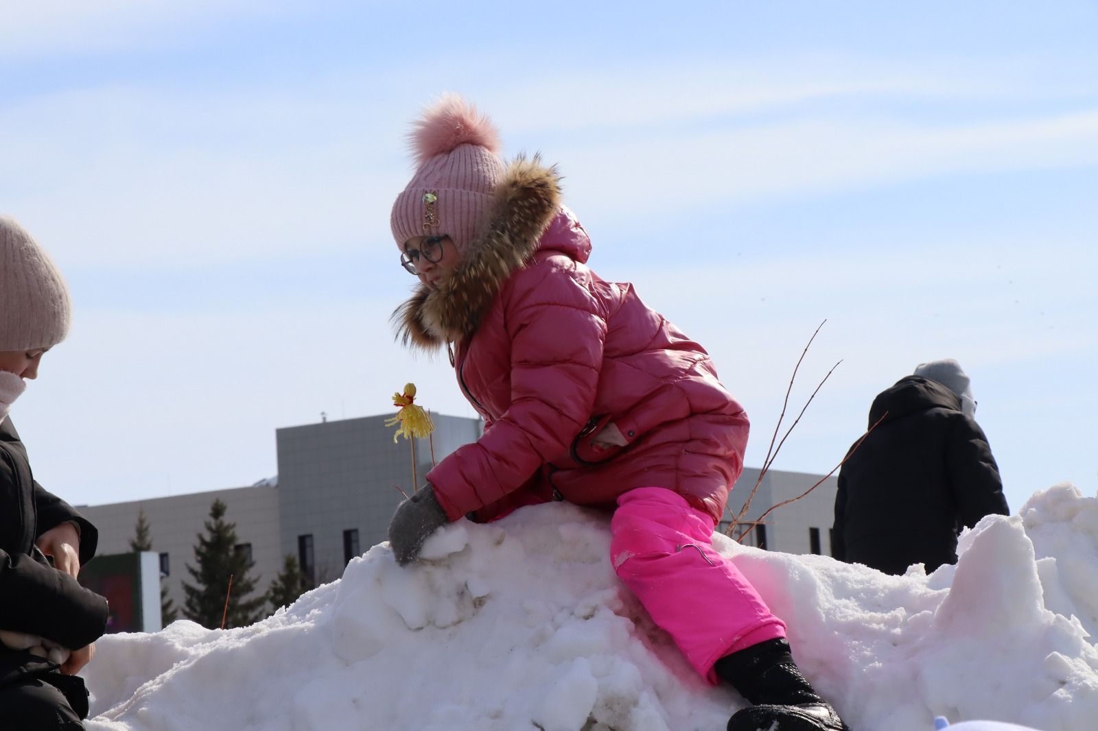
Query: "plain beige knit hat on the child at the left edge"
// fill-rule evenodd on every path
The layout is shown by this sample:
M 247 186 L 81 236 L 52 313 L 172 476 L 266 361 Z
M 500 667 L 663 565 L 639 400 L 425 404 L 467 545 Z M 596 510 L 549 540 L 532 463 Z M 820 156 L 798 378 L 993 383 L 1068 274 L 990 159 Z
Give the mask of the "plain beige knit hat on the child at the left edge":
M 52 348 L 68 334 L 72 305 L 49 255 L 0 216 L 0 351 Z

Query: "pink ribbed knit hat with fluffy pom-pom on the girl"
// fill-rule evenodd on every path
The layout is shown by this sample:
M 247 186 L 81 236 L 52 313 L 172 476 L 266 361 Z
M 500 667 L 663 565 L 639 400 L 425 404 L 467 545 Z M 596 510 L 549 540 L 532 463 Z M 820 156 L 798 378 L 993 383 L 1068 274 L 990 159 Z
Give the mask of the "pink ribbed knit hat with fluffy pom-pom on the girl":
M 458 251 L 486 223 L 503 178 L 500 136 L 489 119 L 457 94 L 444 94 L 411 134 L 417 169 L 390 224 L 396 245 L 415 236 L 449 236 Z

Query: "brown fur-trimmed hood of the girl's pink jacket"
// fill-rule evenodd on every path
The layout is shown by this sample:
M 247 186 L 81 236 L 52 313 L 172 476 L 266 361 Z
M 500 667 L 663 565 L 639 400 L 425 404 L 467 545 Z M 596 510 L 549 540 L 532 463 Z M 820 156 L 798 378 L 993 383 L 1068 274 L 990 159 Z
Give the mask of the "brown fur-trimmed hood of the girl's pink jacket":
M 421 283 L 393 312 L 401 342 L 434 350 L 472 335 L 503 283 L 539 249 L 585 262 L 591 241 L 560 200 L 556 168 L 538 157 L 512 162 L 496 188 L 488 223 L 450 275 L 435 289 Z

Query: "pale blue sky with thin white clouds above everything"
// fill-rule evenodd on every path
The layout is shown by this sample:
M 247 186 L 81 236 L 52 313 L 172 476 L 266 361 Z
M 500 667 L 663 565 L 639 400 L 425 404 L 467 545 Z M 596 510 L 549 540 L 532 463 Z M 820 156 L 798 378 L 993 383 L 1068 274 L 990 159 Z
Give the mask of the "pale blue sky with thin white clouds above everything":
M 592 7 L 594 5 L 594 7 Z M 13 412 L 75 503 L 238 486 L 273 430 L 426 405 L 389 206 L 442 91 L 540 150 L 593 268 L 705 345 L 759 464 L 827 472 L 957 358 L 1017 509 L 1098 491 L 1098 5 L 43 1 L 0 15 L 0 212 L 77 313 Z

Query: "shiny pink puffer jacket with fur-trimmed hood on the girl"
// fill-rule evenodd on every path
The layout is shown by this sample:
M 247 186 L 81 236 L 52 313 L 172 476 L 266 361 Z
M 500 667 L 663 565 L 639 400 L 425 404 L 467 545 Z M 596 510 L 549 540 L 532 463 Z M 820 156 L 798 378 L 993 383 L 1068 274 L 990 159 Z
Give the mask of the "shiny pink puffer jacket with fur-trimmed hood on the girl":
M 556 172 L 520 160 L 450 277 L 399 311 L 405 341 L 455 344 L 458 382 L 484 418 L 484 435 L 427 475 L 451 520 L 554 494 L 613 507 L 646 486 L 720 519 L 743 469 L 747 414 L 702 346 L 630 284 L 603 281 L 590 254 Z M 593 443 L 607 424 L 626 443 Z

